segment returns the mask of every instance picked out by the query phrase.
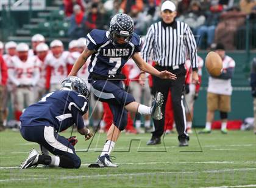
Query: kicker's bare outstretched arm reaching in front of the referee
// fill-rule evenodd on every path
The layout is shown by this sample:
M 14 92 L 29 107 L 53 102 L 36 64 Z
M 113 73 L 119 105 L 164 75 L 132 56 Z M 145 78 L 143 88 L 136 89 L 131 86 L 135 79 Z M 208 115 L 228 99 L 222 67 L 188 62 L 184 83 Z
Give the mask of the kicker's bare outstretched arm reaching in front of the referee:
M 155 69 L 152 65 L 146 63 L 140 56 L 139 53 L 135 53 L 132 56 L 132 59 L 136 62 L 138 67 L 151 75 L 158 76 L 159 78 L 163 79 L 177 79 L 176 75 L 172 74 L 171 72 L 168 72 L 167 70 L 159 72 L 157 69 Z

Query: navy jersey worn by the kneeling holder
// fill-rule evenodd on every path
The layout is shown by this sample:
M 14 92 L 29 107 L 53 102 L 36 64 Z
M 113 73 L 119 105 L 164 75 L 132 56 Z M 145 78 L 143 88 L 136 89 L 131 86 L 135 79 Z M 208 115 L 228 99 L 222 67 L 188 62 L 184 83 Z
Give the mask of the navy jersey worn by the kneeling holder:
M 51 126 L 57 132 L 76 124 L 84 128 L 84 115 L 88 110 L 88 99 L 72 90 L 51 92 L 40 101 L 27 107 L 21 115 L 21 126 Z

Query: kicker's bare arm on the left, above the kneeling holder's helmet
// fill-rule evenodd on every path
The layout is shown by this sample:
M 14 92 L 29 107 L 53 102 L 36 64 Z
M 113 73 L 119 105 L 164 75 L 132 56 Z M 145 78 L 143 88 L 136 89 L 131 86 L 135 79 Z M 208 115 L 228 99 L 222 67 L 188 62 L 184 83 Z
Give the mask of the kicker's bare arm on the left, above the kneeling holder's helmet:
M 94 53 L 93 50 L 88 50 L 87 47 L 85 47 L 84 52 L 81 53 L 79 58 L 76 60 L 73 68 L 71 69 L 71 72 L 68 76 L 76 76 L 76 73 L 79 71 L 79 69 L 82 67 L 82 65 L 85 64 L 87 59 Z

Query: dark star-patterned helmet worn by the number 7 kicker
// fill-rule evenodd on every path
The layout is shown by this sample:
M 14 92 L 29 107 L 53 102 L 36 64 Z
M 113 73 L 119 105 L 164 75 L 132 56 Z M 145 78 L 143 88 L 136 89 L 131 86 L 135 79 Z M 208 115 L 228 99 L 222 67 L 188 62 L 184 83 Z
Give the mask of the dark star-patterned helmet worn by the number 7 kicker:
M 119 13 L 115 15 L 110 21 L 109 27 L 109 39 L 114 45 L 127 45 L 132 39 L 134 32 L 134 23 L 129 15 Z M 119 39 L 123 39 L 123 43 L 118 42 Z

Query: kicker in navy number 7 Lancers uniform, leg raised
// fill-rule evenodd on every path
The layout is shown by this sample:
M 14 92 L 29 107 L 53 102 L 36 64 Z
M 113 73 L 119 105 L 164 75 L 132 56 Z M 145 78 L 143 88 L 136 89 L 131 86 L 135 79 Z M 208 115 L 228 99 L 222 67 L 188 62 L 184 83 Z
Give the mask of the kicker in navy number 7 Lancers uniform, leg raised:
M 141 115 L 152 115 L 153 118 L 162 119 L 161 106 L 162 93 L 157 93 L 152 106 L 144 106 L 135 102 L 130 93 L 125 92 L 121 79 L 121 69 L 129 58 L 133 58 L 142 73 L 165 79 L 176 79 L 176 75 L 154 69 L 140 56 L 141 39 L 134 32 L 132 18 L 126 14 L 115 15 L 110 22 L 109 31 L 92 30 L 87 35 L 88 44 L 84 52 L 75 62 L 69 76 L 74 76 L 91 56 L 88 66 L 90 72 L 91 91 L 100 101 L 108 102 L 113 113 L 113 124 L 108 130 L 107 141 L 95 167 L 118 167 L 110 160 L 110 152 L 127 124 L 127 110 L 138 112 Z M 98 164 L 98 166 L 97 166 Z

